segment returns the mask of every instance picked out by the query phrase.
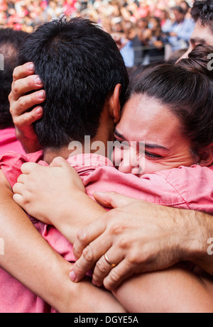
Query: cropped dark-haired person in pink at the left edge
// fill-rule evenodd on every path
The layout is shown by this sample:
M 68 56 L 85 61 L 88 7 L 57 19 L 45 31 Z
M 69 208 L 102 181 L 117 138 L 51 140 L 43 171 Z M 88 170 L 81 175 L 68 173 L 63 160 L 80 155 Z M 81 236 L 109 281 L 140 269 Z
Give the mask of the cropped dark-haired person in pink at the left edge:
M 23 31 L 0 29 L 0 154 L 8 150 L 24 153 L 21 143 L 16 139 L 8 96 L 13 82 L 13 70 L 18 63 L 19 48 L 26 35 Z

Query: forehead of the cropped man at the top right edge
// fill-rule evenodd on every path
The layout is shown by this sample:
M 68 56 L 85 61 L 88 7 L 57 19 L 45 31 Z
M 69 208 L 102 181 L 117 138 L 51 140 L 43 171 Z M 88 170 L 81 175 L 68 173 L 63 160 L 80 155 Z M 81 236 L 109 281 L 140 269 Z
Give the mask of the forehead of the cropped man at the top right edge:
M 204 40 L 206 45 L 213 46 L 213 33 L 209 26 L 203 26 L 200 21 L 197 21 L 191 36 L 191 40 L 195 40 L 196 43 L 199 43 L 199 40 Z

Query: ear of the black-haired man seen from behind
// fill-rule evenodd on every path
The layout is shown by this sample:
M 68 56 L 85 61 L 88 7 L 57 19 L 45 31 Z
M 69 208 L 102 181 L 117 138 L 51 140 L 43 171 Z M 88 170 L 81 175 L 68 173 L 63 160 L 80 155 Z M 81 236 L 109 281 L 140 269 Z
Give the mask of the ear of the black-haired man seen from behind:
M 121 118 L 121 84 L 116 84 L 113 94 L 111 94 L 109 99 L 109 114 L 111 118 L 114 119 L 114 123 L 118 123 Z

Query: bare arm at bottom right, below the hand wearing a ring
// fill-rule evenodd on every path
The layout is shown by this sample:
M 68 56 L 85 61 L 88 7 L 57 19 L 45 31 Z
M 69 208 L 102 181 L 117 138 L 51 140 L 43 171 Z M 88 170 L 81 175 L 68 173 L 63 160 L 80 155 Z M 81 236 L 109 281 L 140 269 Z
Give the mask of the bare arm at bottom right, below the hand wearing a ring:
M 134 275 L 113 294 L 129 312 L 210 313 L 212 287 L 212 282 L 211 287 L 207 287 L 202 277 L 194 275 L 185 265 L 175 265 L 158 272 Z

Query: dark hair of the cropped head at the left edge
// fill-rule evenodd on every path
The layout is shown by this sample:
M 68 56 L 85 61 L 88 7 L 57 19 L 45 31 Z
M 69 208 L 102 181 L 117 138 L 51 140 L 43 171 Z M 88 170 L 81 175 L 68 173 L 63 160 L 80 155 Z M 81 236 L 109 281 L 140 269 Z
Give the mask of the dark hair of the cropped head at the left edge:
M 13 126 L 9 112 L 9 93 L 13 82 L 13 70 L 18 62 L 18 52 L 27 33 L 0 28 L 0 129 Z

